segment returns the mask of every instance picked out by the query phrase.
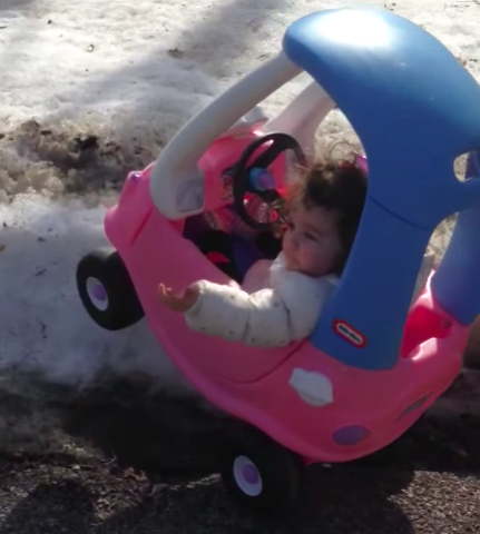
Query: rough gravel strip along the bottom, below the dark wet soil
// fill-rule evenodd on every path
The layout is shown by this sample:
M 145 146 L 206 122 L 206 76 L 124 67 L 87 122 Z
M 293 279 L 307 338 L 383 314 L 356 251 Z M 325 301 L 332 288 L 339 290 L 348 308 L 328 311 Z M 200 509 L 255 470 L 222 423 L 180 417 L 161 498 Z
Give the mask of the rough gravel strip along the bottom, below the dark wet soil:
M 479 532 L 473 477 L 395 467 L 315 473 L 316 510 L 283 522 L 255 522 L 225 498 L 216 477 L 165 486 L 108 465 L 0 461 L 2 534 Z M 413 477 L 413 479 L 410 479 Z M 406 484 L 406 479 L 410 482 Z

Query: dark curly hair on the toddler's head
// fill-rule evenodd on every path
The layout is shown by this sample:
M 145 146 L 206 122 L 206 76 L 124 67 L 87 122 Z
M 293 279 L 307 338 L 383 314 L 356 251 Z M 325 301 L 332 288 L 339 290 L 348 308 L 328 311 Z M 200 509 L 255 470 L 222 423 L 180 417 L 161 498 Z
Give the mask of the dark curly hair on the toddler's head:
M 336 215 L 342 256 L 341 274 L 356 236 L 366 198 L 366 176 L 349 161 L 320 160 L 301 169 L 291 189 L 290 206 L 301 204 L 306 209 L 322 207 Z

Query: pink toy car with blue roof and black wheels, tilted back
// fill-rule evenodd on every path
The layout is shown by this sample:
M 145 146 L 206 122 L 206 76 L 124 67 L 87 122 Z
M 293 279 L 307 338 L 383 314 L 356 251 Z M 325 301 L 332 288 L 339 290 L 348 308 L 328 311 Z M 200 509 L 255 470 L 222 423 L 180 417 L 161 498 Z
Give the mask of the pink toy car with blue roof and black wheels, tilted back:
M 434 67 L 433 67 L 434 66 Z M 277 117 L 255 106 L 302 70 L 313 80 Z M 337 106 L 369 157 L 369 195 L 341 284 L 313 335 L 283 348 L 229 344 L 187 328 L 157 300 L 206 278 L 242 280 L 274 257 L 287 150 L 303 160 Z M 213 404 L 246 423 L 223 479 L 254 510 L 298 496 L 315 462 L 347 462 L 402 435 L 457 376 L 480 313 L 480 88 L 433 37 L 378 9 L 327 10 L 294 22 L 283 50 L 219 96 L 125 181 L 105 229 L 112 249 L 81 259 L 77 283 L 111 330 L 144 314 L 169 357 Z M 453 160 L 472 150 L 467 180 Z M 472 178 L 472 179 L 470 179 Z M 245 200 L 259 198 L 259 221 Z M 252 237 L 213 229 L 235 210 Z M 460 212 L 450 248 L 411 296 L 437 225 Z M 219 240 L 216 240 L 216 239 Z

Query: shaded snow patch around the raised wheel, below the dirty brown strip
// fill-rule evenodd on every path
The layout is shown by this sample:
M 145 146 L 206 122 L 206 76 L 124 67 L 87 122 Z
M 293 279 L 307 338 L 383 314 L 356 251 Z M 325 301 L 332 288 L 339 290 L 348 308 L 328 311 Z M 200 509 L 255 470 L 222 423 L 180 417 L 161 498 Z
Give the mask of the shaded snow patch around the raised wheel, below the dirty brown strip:
M 180 387 L 183 380 L 161 358 L 145 323 L 109 333 L 79 305 L 76 263 L 107 244 L 102 215 L 101 208 L 86 209 L 79 201 L 62 206 L 21 196 L 0 209 L 8 227 L 2 233 L 1 279 L 8 283 L 2 284 L 0 369 L 20 363 L 30 372 L 48 373 L 50 382 L 84 387 L 114 368 L 157 375 L 164 386 Z

